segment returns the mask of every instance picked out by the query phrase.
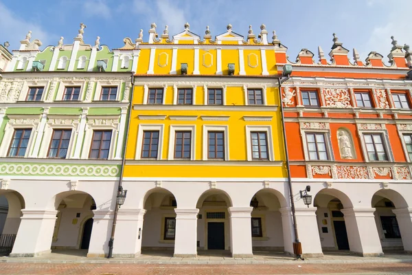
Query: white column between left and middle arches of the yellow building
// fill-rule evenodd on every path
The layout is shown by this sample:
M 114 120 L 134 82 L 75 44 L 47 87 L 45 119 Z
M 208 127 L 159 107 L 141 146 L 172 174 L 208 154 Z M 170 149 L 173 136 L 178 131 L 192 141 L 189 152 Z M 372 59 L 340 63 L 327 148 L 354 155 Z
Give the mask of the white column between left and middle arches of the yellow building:
M 199 210 L 176 208 L 174 212 L 176 212 L 176 232 L 173 256 L 183 258 L 196 257 L 197 214 Z

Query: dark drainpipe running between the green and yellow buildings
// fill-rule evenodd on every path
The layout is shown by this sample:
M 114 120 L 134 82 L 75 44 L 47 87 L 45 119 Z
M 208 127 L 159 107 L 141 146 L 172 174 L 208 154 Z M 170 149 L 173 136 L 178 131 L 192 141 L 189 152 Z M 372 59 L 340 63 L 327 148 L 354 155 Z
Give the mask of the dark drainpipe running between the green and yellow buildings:
M 130 100 L 129 100 L 129 108 L 128 108 L 128 115 L 127 115 L 127 120 L 126 120 L 126 125 L 125 125 L 125 135 L 126 139 L 124 140 L 124 145 L 123 145 L 123 156 L 122 156 L 122 168 L 120 168 L 120 175 L 119 175 L 119 186 L 117 187 L 117 196 L 121 194 L 123 190 L 123 173 L 124 173 L 124 164 L 126 162 L 126 144 L 128 142 L 128 129 L 129 129 L 129 124 L 130 124 L 130 116 L 132 115 L 132 101 L 133 101 L 133 93 L 135 91 L 135 72 L 131 72 L 131 77 L 130 81 L 132 84 L 132 92 L 130 93 Z M 126 87 L 125 87 L 126 88 Z M 120 142 L 120 141 L 118 141 Z M 117 203 L 117 196 L 116 196 L 116 206 L 115 206 L 115 215 L 113 217 L 113 225 L 112 225 L 112 232 L 111 232 L 111 237 L 110 240 L 108 241 L 108 254 L 107 258 L 110 259 L 112 258 L 113 254 L 113 243 L 115 241 L 115 230 L 116 230 L 116 221 L 117 221 L 117 213 L 119 212 L 119 203 Z

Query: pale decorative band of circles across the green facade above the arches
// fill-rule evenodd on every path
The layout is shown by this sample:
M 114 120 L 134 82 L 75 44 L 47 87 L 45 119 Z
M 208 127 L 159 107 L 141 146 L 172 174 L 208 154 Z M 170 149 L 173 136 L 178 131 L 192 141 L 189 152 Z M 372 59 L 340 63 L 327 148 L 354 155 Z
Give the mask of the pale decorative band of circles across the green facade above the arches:
M 113 165 L 0 164 L 0 175 L 116 177 Z

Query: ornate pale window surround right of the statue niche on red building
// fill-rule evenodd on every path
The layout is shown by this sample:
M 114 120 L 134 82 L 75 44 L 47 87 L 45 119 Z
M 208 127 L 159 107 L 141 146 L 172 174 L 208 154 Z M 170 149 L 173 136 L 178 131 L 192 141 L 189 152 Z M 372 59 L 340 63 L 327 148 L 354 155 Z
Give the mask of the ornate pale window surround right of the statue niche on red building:
M 359 139 L 361 140 L 362 152 L 363 152 L 366 162 L 383 162 L 383 161 L 370 161 L 369 160 L 369 157 L 367 155 L 367 150 L 366 150 L 365 139 L 363 137 L 363 134 L 365 133 L 382 134 L 383 143 L 384 143 L 383 146 L 385 147 L 385 151 L 387 152 L 387 155 L 388 155 L 388 160 L 385 162 L 394 162 L 392 148 L 389 142 L 389 134 L 388 134 L 385 124 L 362 123 L 362 124 L 356 124 L 356 126 L 358 130 Z

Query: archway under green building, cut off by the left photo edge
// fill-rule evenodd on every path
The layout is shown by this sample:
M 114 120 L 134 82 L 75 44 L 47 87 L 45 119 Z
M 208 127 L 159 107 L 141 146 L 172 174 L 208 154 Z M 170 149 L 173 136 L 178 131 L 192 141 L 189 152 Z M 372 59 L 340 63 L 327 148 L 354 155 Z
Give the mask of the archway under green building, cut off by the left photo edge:
M 12 252 L 24 208 L 25 201 L 19 192 L 4 190 L 0 193 L 0 256 Z

